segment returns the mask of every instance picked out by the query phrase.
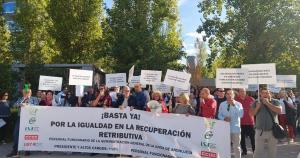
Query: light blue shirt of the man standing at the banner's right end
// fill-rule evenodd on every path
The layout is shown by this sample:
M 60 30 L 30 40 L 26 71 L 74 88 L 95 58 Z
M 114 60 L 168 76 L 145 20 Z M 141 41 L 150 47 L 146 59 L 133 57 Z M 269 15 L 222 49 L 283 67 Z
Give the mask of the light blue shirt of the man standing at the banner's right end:
M 225 117 L 230 117 L 230 133 L 241 133 L 241 118 L 244 115 L 243 106 L 240 102 L 233 101 L 234 106 L 224 101 L 220 104 L 218 118 L 224 120 Z

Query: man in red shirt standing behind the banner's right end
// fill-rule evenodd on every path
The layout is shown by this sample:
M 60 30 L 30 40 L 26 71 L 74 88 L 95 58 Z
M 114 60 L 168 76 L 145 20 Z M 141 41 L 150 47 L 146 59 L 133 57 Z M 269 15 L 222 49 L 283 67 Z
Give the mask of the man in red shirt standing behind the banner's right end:
M 210 95 L 208 88 L 203 88 L 200 92 L 199 116 L 214 119 L 216 116 L 217 102 Z

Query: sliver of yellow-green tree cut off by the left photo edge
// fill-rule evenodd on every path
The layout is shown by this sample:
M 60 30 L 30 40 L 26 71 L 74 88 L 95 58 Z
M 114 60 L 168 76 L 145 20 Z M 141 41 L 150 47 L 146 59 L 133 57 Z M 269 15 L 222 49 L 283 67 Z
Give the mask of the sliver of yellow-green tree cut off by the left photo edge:
M 9 44 L 10 32 L 6 27 L 2 5 L 0 5 L 0 64 L 8 64 L 12 61 Z

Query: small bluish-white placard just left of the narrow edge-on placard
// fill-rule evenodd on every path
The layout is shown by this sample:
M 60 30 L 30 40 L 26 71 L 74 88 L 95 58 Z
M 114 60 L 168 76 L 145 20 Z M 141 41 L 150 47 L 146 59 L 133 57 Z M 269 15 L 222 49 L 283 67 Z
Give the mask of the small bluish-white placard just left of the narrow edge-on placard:
M 126 73 L 106 74 L 105 81 L 107 87 L 126 86 Z

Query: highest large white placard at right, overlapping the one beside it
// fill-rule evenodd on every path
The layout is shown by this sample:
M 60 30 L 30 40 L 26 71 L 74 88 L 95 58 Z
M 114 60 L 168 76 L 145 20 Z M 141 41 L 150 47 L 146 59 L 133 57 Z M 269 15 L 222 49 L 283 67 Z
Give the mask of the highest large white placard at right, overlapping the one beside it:
M 275 63 L 246 64 L 243 69 L 248 69 L 248 84 L 276 84 Z

